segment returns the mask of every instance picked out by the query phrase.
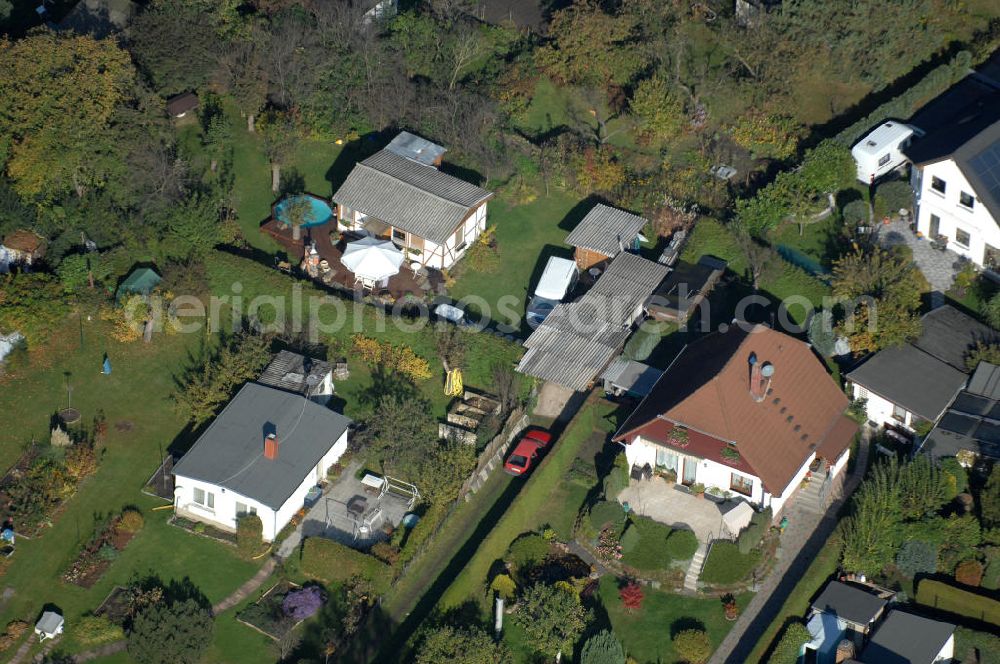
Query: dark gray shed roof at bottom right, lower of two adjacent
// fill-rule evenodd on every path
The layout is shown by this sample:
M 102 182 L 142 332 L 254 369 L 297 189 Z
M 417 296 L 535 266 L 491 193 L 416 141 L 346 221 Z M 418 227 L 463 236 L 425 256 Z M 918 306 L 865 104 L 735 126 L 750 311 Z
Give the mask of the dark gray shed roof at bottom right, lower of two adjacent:
M 955 626 L 898 609 L 890 611 L 861 651 L 865 664 L 932 664 Z

